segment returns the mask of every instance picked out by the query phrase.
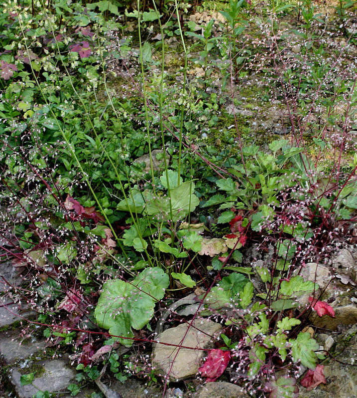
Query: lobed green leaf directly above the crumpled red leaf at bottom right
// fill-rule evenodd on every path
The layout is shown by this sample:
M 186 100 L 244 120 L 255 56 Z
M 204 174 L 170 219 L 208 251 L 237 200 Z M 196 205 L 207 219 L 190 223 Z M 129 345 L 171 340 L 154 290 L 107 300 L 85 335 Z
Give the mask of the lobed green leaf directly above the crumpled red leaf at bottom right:
M 291 355 L 293 361 L 301 362 L 309 369 L 316 368 L 315 351 L 319 349 L 319 344 L 311 337 L 308 332 L 300 332 L 296 339 L 289 339 L 291 343 Z

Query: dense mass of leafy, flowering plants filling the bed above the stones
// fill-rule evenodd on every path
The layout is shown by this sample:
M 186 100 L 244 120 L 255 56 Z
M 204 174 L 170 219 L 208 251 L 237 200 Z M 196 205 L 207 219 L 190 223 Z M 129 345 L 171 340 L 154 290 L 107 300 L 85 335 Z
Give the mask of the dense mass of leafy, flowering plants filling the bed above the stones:
M 223 325 L 199 378 L 326 383 L 305 269 L 356 243 L 355 4 L 216 5 L 1 6 L 5 295 L 71 352 L 73 396 L 102 370 L 166 388 L 160 323 L 199 319 Z

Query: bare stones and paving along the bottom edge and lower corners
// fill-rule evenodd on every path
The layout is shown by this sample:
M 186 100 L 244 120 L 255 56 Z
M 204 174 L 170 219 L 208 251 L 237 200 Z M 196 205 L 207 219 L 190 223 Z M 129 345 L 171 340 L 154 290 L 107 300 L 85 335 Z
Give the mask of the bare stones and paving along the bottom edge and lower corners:
M 336 317 L 328 316 L 311 318 L 310 331 L 321 344 L 320 349 L 328 353 L 323 362 L 327 384 L 320 384 L 316 390 L 306 391 L 300 386 L 301 398 L 355 398 L 357 397 L 357 298 L 356 270 L 357 254 L 353 248 L 341 250 L 328 266 L 307 264 L 304 269 L 306 279 L 316 281 L 325 286 L 324 299 L 331 303 Z M 37 389 L 50 393 L 62 392 L 62 397 L 71 397 L 67 387 L 76 383 L 76 365 L 73 365 L 70 355 L 61 348 L 50 347 L 42 337 L 39 326 L 26 328 L 26 319 L 35 319 L 35 314 L 26 310 L 26 304 L 16 294 L 9 294 L 8 284 L 14 283 L 11 278 L 12 267 L 2 263 L 0 297 L 0 354 L 1 354 L 1 392 L 0 397 L 31 398 Z M 183 304 L 188 304 L 183 303 Z M 184 305 L 182 306 L 184 308 Z M 179 310 L 179 308 L 177 308 Z M 22 321 L 22 325 L 20 322 Z M 162 343 L 174 344 L 182 340 L 183 345 L 192 348 L 210 348 L 208 335 L 219 333 L 221 325 L 208 321 L 193 325 L 187 332 L 187 325 L 168 328 L 159 335 Z M 37 331 L 37 332 L 36 332 Z M 165 394 L 168 398 L 183 396 L 239 397 L 247 398 L 240 389 L 227 382 L 207 383 L 202 385 L 194 380 L 199 367 L 199 360 L 204 351 L 177 349 L 157 344 L 153 348 L 152 359 L 162 376 L 169 376 L 171 383 L 164 392 L 162 385 L 147 386 L 141 380 L 130 378 L 119 383 L 104 375 L 100 384 L 107 398 L 158 398 Z M 159 372 L 159 373 L 160 373 Z M 303 374 L 302 369 L 301 374 Z M 34 373 L 33 385 L 21 386 L 21 375 Z M 185 381 L 185 384 L 182 381 Z M 78 384 L 78 383 L 76 383 Z M 104 387 L 103 387 L 104 386 Z M 186 392 L 186 389 L 189 389 Z M 184 392 L 185 391 L 185 392 Z M 100 394 L 97 383 L 85 384 L 79 398 Z M 102 393 L 103 394 L 103 393 Z M 100 397 L 100 395 L 93 395 Z

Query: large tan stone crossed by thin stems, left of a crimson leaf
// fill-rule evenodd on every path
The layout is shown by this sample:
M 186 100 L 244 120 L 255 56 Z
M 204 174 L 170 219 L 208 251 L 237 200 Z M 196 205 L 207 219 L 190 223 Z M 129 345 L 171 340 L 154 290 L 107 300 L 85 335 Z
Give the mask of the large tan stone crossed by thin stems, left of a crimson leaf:
M 172 381 L 195 376 L 204 356 L 222 326 L 207 319 L 195 320 L 192 325 L 182 324 L 158 335 L 160 343 L 153 351 L 153 367 L 162 370 Z M 189 348 L 180 348 L 183 346 Z

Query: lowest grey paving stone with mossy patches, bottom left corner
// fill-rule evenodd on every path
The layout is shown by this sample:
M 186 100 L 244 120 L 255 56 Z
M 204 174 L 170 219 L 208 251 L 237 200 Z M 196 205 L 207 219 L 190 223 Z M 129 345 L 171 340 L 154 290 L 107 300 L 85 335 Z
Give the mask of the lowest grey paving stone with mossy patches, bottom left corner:
M 35 365 L 43 367 L 43 374 L 35 378 L 33 385 L 41 391 L 50 393 L 66 390 L 77 373 L 67 365 L 67 361 L 64 359 L 39 361 Z M 16 390 L 17 398 L 32 398 L 38 391 L 31 385 L 21 386 L 20 377 L 28 373 L 31 371 L 26 371 L 25 368 L 16 368 L 12 371 L 10 382 Z

